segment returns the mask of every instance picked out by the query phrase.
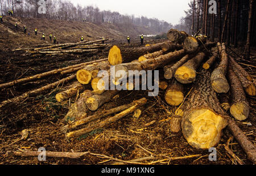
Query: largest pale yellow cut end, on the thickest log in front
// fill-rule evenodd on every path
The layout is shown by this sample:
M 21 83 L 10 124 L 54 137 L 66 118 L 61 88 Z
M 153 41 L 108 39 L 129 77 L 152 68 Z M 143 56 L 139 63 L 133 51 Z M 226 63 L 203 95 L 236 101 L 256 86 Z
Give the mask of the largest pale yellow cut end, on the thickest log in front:
M 197 149 L 209 149 L 218 144 L 226 121 L 209 109 L 197 109 L 188 114 L 182 129 L 188 143 Z

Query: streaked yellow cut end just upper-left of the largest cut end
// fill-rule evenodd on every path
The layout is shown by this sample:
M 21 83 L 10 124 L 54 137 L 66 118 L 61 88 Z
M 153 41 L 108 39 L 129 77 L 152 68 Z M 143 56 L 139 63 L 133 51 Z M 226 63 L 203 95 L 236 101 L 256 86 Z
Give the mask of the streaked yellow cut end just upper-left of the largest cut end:
M 175 91 L 175 90 L 168 90 L 165 95 L 166 102 L 169 105 L 177 106 L 180 105 L 183 101 L 184 95 L 183 92 Z

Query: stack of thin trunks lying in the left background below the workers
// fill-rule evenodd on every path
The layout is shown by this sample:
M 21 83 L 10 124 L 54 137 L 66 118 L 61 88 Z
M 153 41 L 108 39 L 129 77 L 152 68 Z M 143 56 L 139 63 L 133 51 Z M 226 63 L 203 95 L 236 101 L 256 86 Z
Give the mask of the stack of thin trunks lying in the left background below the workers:
M 95 41 L 81 41 L 77 43 L 67 43 L 58 45 L 48 45 L 35 48 L 14 49 L 13 51 L 24 50 L 26 54 L 37 55 L 65 55 L 65 54 L 84 54 L 97 52 L 102 49 L 109 49 L 109 44 L 103 44 L 108 39 L 95 40 Z M 102 44 L 97 44 L 102 42 Z

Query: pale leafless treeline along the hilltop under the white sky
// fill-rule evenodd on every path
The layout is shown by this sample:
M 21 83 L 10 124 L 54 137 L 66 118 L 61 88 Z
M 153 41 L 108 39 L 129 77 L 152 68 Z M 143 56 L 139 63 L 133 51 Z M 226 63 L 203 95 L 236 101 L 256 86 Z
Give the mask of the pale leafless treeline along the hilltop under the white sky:
M 8 14 L 8 10 L 12 9 L 14 15 L 23 18 L 40 18 L 42 15 L 38 13 L 38 2 L 42 0 L 0 0 L 1 13 Z M 91 23 L 113 23 L 125 25 L 139 25 L 151 29 L 151 31 L 160 33 L 167 32 L 172 28 L 172 24 L 160 21 L 158 19 L 148 19 L 144 16 L 135 17 L 134 15 L 121 15 L 118 12 L 101 11 L 95 6 L 73 5 L 73 3 L 64 0 L 47 0 L 46 15 L 44 18 L 59 20 L 74 20 Z M 123 26 L 123 25 L 122 25 Z

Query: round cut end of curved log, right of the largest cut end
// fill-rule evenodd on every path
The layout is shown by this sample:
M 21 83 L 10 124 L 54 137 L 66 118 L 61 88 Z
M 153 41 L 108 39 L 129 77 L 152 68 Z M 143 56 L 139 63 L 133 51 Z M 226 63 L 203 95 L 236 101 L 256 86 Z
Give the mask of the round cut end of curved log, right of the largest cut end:
M 230 113 L 238 121 L 245 120 L 249 115 L 249 106 L 246 102 L 238 102 L 230 107 Z

